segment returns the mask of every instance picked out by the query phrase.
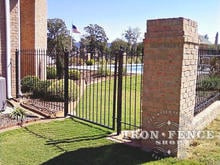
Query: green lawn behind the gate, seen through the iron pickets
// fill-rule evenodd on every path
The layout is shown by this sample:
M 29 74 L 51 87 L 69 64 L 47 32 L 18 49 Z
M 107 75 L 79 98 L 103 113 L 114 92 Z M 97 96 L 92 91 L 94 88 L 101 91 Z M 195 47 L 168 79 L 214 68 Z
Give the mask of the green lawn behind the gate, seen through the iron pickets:
M 80 118 L 112 127 L 114 80 L 107 80 L 104 77 L 102 79 L 102 82 L 85 88 L 75 112 Z M 123 77 L 121 102 L 123 129 L 134 129 L 127 125 L 128 123 L 137 127 L 141 125 L 141 81 L 141 75 Z

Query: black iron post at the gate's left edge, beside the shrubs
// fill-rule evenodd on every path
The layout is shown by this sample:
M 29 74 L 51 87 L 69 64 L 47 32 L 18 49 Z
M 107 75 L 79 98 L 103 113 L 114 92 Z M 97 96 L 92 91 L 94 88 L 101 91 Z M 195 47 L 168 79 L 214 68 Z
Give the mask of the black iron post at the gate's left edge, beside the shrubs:
M 69 52 L 64 52 L 64 117 L 68 114 Z

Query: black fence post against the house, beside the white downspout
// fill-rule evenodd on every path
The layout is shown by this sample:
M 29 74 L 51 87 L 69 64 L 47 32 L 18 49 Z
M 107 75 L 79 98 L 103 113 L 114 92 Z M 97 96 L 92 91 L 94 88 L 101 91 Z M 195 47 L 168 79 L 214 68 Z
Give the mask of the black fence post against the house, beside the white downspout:
M 16 97 L 19 98 L 22 96 L 21 93 L 21 61 L 20 61 L 20 52 L 16 49 Z

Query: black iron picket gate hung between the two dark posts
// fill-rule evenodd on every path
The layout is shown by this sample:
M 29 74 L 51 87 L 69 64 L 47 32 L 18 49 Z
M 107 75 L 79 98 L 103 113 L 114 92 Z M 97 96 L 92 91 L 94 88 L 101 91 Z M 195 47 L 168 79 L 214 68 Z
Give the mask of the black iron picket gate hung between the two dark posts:
M 69 72 L 78 72 L 78 100 L 69 104 L 68 115 L 106 128 L 115 128 L 116 57 L 106 54 L 69 54 Z M 69 75 L 71 79 L 71 75 Z

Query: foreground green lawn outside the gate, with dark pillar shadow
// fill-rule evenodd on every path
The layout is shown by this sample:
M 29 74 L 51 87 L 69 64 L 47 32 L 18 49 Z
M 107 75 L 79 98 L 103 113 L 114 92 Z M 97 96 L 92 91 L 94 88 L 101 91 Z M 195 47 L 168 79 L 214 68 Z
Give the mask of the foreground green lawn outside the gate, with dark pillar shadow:
M 220 116 L 207 129 L 219 135 Z M 34 124 L 0 134 L 1 165 L 150 164 L 200 165 L 220 161 L 219 136 L 197 141 L 188 160 L 156 161 L 151 153 L 106 139 L 107 129 L 74 119 Z

